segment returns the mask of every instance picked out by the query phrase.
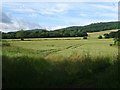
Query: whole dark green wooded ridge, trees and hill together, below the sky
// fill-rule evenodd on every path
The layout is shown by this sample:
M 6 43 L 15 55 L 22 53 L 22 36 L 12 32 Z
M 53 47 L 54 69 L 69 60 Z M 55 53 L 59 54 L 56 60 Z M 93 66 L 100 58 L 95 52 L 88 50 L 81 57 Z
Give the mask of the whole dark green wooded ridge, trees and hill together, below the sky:
M 118 22 L 100 22 L 92 23 L 86 26 L 71 26 L 61 29 L 56 29 L 54 31 L 48 31 L 45 29 L 34 29 L 23 31 L 24 38 L 52 38 L 52 37 L 83 37 L 88 36 L 87 33 L 99 32 L 112 29 L 119 29 Z M 17 32 L 2 32 L 3 39 L 14 39 L 19 38 Z

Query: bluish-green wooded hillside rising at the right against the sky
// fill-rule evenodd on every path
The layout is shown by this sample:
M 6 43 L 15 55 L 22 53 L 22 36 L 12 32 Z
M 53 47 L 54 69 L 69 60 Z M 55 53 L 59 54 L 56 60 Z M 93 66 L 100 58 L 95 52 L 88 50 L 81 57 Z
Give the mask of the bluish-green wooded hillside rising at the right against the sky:
M 118 29 L 118 22 L 100 22 L 92 23 L 85 26 L 71 26 L 57 30 L 81 30 L 86 32 L 99 32 L 105 30 Z

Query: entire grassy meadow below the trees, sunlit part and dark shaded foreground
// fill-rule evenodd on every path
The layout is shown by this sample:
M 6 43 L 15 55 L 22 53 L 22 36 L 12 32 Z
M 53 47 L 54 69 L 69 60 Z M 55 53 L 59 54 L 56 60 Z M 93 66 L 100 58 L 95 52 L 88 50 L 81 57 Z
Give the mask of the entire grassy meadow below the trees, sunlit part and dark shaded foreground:
M 98 39 L 103 32 L 86 40 L 3 40 L 3 88 L 118 88 L 118 47 L 110 46 L 113 39 Z

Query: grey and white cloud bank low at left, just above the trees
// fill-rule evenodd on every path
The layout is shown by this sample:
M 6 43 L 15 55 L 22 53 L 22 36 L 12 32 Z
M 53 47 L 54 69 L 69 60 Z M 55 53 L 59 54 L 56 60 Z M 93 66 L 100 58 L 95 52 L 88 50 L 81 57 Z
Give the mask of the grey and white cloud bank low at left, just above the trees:
M 42 27 L 33 22 L 24 21 L 20 19 L 10 18 L 5 13 L 0 14 L 0 18 L 2 17 L 2 21 L 0 21 L 0 30 L 4 32 L 8 31 L 17 31 L 20 29 L 28 30 L 28 29 L 42 29 Z

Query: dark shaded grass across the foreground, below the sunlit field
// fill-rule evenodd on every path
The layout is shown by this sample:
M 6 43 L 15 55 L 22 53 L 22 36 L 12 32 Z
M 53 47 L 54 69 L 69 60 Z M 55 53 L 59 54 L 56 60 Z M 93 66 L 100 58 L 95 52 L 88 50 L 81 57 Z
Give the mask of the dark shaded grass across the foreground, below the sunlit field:
M 99 57 L 95 60 L 63 60 L 8 57 L 3 55 L 4 88 L 120 87 L 120 61 Z

